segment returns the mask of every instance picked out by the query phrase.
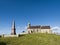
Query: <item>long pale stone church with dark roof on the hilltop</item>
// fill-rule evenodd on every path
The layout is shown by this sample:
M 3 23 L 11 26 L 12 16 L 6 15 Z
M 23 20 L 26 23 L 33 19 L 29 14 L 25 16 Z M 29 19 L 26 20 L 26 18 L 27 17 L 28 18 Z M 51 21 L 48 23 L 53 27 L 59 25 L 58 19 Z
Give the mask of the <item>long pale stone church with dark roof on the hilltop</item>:
M 27 27 L 28 33 L 51 33 L 50 26 L 31 26 L 31 24 L 28 24 Z

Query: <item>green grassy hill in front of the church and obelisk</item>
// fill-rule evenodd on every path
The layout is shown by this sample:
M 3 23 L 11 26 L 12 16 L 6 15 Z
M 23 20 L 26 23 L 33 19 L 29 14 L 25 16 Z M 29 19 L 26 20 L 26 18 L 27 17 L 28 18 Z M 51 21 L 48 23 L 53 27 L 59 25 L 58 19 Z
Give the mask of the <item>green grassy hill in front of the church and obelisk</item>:
M 60 36 L 54 34 L 26 34 L 14 38 L 0 38 L 0 45 L 60 45 Z

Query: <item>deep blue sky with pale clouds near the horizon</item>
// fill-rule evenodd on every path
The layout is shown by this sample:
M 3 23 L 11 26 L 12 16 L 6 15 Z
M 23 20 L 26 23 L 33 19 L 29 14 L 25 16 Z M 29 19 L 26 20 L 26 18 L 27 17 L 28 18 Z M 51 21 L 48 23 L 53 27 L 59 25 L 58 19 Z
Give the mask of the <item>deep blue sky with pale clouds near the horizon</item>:
M 16 32 L 31 25 L 50 25 L 60 32 L 59 0 L 0 0 L 0 34 L 10 34 L 15 20 Z

